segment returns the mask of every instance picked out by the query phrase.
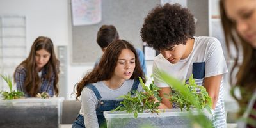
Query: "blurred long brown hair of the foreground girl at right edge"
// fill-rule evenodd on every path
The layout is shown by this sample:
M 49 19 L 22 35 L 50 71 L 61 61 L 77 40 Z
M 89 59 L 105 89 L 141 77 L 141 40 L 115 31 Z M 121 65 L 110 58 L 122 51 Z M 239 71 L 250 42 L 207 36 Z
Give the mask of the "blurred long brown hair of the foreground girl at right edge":
M 237 33 L 236 24 L 228 19 L 225 12 L 224 0 L 220 0 L 219 6 L 228 52 L 230 53 L 232 43 L 236 51 L 236 56 L 231 56 L 234 60 L 234 65 L 230 72 L 230 83 L 234 83 L 235 86 L 239 87 L 242 99 L 239 99 L 239 97 L 234 94 L 234 91 L 232 91 L 232 96 L 239 102 L 241 108 L 244 108 L 246 104 L 248 104 L 256 87 L 256 50 Z M 242 47 L 242 51 L 240 47 Z M 243 53 L 242 63 L 239 63 L 239 53 Z M 237 73 L 236 68 L 238 68 Z M 232 79 L 233 74 L 236 74 L 236 81 Z

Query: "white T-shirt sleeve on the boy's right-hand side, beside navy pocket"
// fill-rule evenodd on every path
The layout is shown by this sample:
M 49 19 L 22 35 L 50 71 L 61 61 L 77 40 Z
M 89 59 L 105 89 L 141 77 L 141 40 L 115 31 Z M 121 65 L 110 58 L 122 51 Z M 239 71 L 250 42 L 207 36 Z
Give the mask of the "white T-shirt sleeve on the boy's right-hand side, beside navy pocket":
M 205 60 L 205 77 L 216 76 L 228 72 L 221 43 L 216 38 L 207 46 L 207 58 Z

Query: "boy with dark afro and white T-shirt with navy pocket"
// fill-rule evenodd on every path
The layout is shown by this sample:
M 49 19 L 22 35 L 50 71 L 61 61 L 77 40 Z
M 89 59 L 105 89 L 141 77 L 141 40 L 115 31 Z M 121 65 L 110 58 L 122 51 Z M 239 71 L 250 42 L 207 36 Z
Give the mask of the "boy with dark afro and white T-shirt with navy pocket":
M 188 83 L 193 74 L 196 84 L 204 86 L 212 99 L 214 127 L 227 127 L 224 109 L 223 74 L 228 72 L 220 42 L 195 35 L 195 20 L 187 8 L 166 3 L 156 6 L 145 18 L 141 38 L 161 54 L 154 58 L 154 83 L 161 88 L 160 109 L 179 108 L 164 97 L 172 88 L 159 76 L 160 71 Z

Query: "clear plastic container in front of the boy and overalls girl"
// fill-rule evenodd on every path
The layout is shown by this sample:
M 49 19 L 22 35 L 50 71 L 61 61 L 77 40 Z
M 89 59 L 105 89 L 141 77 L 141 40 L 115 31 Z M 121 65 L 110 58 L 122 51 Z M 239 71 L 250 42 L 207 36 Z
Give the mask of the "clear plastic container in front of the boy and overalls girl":
M 191 127 L 189 115 L 196 116 L 198 111 L 191 109 L 188 111 L 180 111 L 180 109 L 164 109 L 161 113 L 138 113 L 138 118 L 134 118 L 133 113 L 125 111 L 104 111 L 108 128 L 136 128 L 136 127 Z M 212 115 L 204 111 L 205 116 L 211 120 Z

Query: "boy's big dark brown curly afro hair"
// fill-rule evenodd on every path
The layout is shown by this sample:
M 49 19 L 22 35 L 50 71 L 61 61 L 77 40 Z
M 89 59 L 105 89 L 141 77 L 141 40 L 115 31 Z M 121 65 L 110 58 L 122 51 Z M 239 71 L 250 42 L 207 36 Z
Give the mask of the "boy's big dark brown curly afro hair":
M 145 18 L 141 38 L 156 50 L 186 44 L 195 34 L 195 20 L 188 8 L 166 3 L 156 6 Z

